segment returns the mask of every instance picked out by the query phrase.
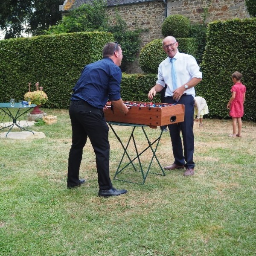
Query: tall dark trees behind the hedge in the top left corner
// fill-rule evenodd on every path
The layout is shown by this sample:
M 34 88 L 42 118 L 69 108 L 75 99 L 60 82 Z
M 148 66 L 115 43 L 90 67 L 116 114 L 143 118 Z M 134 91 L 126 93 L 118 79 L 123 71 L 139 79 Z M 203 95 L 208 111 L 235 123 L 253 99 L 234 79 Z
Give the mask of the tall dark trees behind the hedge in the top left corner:
M 39 35 L 61 20 L 59 5 L 64 0 L 0 1 L 0 29 L 5 39 L 22 37 L 23 33 Z

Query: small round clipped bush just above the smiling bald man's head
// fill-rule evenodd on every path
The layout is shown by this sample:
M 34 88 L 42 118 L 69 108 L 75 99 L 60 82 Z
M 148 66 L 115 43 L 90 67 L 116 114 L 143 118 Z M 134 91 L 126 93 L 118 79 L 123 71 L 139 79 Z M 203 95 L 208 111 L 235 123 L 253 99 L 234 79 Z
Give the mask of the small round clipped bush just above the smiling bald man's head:
M 169 15 L 162 25 L 164 37 L 172 35 L 175 38 L 187 38 L 189 36 L 190 21 L 188 17 L 175 14 Z

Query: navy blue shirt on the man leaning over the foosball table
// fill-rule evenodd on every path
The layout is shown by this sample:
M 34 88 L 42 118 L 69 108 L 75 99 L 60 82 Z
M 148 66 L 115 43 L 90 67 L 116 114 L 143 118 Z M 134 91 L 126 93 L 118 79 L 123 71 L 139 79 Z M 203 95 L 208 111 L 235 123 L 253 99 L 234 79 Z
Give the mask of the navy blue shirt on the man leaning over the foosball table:
M 90 63 L 84 67 L 73 87 L 71 100 L 86 101 L 93 107 L 102 109 L 108 99 L 111 101 L 121 99 L 121 79 L 121 69 L 111 58 Z

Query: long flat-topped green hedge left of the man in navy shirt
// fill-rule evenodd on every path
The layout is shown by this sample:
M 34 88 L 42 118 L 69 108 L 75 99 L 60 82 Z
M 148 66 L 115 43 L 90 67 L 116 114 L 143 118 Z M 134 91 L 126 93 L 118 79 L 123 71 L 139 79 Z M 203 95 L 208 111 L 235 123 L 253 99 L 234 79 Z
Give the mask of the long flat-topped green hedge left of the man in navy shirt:
M 47 93 L 46 108 L 67 108 L 82 68 L 102 59 L 102 48 L 113 35 L 79 32 L 0 41 L 0 101 L 23 99 L 39 82 Z M 10 52 L 12 51 L 12 52 Z M 13 53 L 17 52 L 19 54 Z

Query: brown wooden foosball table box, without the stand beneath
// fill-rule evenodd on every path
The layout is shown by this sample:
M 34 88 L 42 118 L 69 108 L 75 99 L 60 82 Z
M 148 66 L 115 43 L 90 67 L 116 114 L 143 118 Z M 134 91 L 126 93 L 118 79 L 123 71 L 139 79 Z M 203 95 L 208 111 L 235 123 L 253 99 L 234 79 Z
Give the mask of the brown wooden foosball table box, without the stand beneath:
M 104 111 L 106 121 L 148 125 L 150 128 L 184 121 L 185 107 L 182 104 L 130 101 L 124 101 L 124 104 L 129 108 L 127 114 L 118 109 L 113 111 L 111 102 L 107 102 L 107 109 Z

